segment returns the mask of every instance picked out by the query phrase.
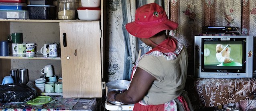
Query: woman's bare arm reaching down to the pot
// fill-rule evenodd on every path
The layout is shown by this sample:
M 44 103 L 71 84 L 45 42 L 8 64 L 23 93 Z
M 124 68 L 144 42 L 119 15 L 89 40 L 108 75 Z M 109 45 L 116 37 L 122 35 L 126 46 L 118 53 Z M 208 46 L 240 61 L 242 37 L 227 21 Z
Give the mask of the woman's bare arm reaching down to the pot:
M 140 101 L 144 95 L 148 92 L 156 78 L 141 68 L 137 68 L 130 87 L 127 91 L 122 94 L 116 95 L 116 101 L 120 101 L 125 104 L 133 104 Z M 107 99 L 110 101 L 114 100 L 114 95 L 117 92 L 112 91 L 108 93 Z

